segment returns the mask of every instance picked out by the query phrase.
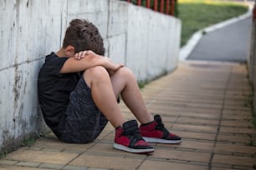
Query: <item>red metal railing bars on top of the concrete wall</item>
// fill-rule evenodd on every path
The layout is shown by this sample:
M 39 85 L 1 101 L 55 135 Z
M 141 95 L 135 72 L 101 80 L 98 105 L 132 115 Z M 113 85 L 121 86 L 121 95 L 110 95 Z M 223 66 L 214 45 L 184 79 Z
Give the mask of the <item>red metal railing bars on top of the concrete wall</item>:
M 126 0 L 127 2 L 132 2 L 137 6 L 144 6 L 147 8 L 151 8 L 152 10 L 165 13 L 167 15 L 175 15 L 175 4 L 177 0 L 143 0 L 144 4 L 142 4 L 142 0 Z M 146 3 L 146 4 L 145 4 Z

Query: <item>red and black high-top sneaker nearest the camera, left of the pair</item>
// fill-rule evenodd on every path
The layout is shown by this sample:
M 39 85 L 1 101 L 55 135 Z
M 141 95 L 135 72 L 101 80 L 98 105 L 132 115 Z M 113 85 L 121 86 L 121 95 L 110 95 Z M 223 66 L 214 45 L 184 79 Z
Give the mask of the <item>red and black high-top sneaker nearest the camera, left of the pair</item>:
M 123 127 L 115 129 L 114 148 L 129 153 L 154 152 L 154 148 L 142 138 L 136 120 L 125 122 Z

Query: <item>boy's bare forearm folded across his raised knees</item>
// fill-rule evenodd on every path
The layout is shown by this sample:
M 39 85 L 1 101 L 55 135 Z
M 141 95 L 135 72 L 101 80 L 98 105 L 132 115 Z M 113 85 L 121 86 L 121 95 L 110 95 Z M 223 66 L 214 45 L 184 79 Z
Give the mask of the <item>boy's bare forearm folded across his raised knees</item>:
M 119 69 L 120 67 L 123 67 L 121 64 L 115 64 L 114 62 L 111 62 L 107 57 L 102 57 L 95 54 L 94 52 L 90 52 L 80 59 L 69 57 L 69 59 L 64 62 L 63 67 L 61 67 L 60 73 L 81 72 L 95 66 L 102 66 L 113 72 L 115 72 L 115 70 Z

